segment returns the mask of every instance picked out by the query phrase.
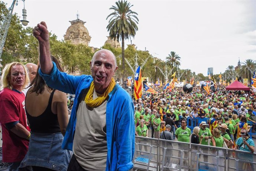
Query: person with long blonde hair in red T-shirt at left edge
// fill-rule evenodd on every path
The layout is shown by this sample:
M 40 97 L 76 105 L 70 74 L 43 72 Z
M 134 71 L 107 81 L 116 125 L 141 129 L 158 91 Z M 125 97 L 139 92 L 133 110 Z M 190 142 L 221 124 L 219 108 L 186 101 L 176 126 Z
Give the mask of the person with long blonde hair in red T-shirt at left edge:
M 24 65 L 19 62 L 7 64 L 1 77 L 0 123 L 3 135 L 3 162 L 9 170 L 18 170 L 25 157 L 30 139 L 30 128 L 25 113 L 25 96 L 22 89 L 29 83 Z

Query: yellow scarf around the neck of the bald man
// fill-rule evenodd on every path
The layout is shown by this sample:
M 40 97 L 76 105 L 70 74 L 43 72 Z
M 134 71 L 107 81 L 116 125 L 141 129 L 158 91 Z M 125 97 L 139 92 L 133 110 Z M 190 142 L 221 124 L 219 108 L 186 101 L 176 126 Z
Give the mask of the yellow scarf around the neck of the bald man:
M 105 101 L 105 99 L 108 97 L 108 94 L 114 89 L 114 87 L 115 87 L 115 80 L 114 78 L 112 78 L 106 91 L 96 99 L 92 99 L 93 91 L 94 91 L 94 82 L 92 81 L 90 89 L 85 96 L 85 103 L 90 107 L 101 105 Z

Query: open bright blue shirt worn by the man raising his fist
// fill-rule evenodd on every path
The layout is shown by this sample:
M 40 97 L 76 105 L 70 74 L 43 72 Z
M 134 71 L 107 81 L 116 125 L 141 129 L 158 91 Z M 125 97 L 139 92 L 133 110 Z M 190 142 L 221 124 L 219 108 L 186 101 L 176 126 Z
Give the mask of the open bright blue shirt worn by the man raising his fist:
M 92 76 L 72 76 L 60 72 L 53 62 L 50 75 L 45 75 L 39 69 L 40 76 L 51 88 L 65 93 L 75 94 L 68 127 L 63 140 L 62 148 L 72 150 L 76 128 L 76 111 L 78 99 L 83 95 L 82 90 L 90 87 Z M 118 84 L 109 93 L 106 106 L 106 137 L 107 160 L 106 171 L 127 171 L 133 167 L 132 158 L 135 146 L 134 105 L 129 94 Z

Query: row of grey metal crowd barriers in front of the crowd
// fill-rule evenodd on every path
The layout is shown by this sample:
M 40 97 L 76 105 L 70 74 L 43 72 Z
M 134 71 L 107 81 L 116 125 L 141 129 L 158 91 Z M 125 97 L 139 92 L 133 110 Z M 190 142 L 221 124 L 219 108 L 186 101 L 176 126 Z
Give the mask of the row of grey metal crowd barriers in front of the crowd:
M 254 171 L 256 153 L 135 136 L 134 170 Z

